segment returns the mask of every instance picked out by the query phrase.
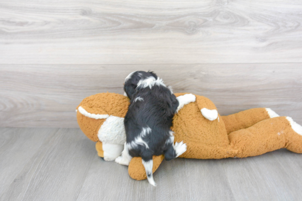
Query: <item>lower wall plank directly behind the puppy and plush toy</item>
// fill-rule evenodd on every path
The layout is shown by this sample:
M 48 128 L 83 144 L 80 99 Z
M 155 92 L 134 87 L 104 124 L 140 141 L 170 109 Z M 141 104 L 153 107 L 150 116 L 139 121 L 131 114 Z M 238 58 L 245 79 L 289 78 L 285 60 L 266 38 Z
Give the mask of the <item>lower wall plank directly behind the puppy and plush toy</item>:
M 302 124 L 301 64 L 0 65 L 0 126 L 78 127 L 75 108 L 153 70 L 174 92 L 210 98 L 221 115 L 270 107 Z

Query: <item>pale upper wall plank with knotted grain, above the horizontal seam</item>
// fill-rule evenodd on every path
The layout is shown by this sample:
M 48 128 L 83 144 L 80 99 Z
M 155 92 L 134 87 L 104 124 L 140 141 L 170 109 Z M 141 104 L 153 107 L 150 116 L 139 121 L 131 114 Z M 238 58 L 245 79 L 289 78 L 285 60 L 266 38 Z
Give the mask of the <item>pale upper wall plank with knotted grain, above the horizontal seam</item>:
M 1 64 L 302 62 L 302 2 L 0 3 Z

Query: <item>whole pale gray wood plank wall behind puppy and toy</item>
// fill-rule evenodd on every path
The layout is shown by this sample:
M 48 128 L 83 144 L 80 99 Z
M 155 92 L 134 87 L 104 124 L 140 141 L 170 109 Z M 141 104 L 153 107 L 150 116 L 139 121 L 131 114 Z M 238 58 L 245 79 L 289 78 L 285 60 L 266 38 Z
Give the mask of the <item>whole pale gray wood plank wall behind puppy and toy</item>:
M 271 107 L 302 124 L 302 2 L 0 2 L 0 126 L 77 127 L 86 96 L 153 70 L 220 114 Z

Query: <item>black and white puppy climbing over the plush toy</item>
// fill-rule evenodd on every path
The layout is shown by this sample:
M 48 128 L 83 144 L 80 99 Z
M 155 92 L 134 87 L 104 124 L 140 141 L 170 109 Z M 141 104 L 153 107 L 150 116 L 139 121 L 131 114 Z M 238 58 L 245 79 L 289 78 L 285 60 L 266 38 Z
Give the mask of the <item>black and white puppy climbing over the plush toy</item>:
M 122 155 L 115 161 L 129 165 L 132 157 L 141 157 L 148 182 L 156 186 L 152 157 L 164 154 L 166 160 L 172 160 L 186 151 L 183 142 L 174 145 L 170 130 L 174 114 L 183 105 L 153 72 L 130 73 L 125 79 L 124 90 L 130 98 L 124 118 L 126 142 Z

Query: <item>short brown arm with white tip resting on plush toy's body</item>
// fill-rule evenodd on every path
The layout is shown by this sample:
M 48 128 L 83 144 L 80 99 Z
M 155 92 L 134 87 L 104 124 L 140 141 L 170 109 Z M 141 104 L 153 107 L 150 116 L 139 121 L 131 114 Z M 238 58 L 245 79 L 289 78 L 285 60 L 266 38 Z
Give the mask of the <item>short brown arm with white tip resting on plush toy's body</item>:
M 206 119 L 214 121 L 218 118 L 217 108 L 214 103 L 210 101 L 210 99 L 204 96 L 196 95 L 196 103 L 202 116 L 204 116 Z

